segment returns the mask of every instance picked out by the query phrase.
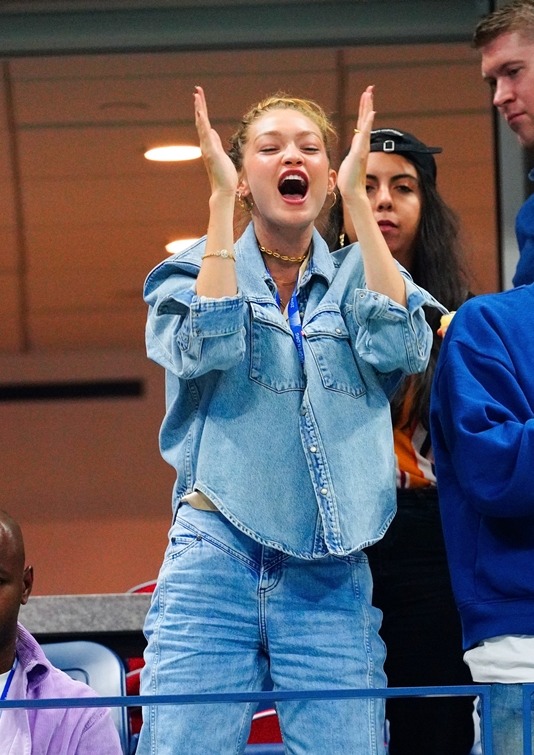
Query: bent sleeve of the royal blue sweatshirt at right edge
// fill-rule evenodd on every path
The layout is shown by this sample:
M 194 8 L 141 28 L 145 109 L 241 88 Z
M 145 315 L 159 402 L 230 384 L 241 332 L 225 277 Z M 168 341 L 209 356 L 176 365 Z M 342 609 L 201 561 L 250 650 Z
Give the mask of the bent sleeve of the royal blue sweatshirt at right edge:
M 462 305 L 440 352 L 431 401 L 438 481 L 454 479 L 480 514 L 493 517 L 534 515 L 534 417 L 526 376 L 506 342 L 514 338 L 517 330 L 476 299 Z

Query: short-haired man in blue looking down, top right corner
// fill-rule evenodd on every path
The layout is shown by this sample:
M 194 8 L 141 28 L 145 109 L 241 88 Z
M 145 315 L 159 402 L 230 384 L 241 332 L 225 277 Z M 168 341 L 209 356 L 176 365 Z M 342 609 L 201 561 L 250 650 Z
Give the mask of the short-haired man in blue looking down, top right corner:
M 513 0 L 483 18 L 474 46 L 493 104 L 524 147 L 534 147 L 534 0 Z M 534 181 L 534 170 L 529 173 Z M 516 218 L 519 262 L 514 286 L 534 282 L 534 194 Z

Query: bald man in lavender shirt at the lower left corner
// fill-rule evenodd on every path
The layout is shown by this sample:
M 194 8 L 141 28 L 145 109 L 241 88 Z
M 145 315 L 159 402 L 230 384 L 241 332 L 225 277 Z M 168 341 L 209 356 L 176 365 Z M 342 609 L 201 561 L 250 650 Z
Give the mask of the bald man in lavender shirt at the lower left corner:
M 95 697 L 90 687 L 54 668 L 18 623 L 33 585 L 19 525 L 0 510 L 0 700 Z M 122 755 L 105 708 L 0 707 L 0 750 L 16 755 Z

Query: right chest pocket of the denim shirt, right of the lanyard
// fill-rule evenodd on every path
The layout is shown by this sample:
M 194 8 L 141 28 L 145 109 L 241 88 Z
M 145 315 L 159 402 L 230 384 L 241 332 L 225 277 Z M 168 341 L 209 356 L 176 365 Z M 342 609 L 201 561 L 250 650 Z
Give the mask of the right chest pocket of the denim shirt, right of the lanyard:
M 366 393 L 355 357 L 349 330 L 339 309 L 316 310 L 306 323 L 303 336 L 324 388 L 347 393 L 354 398 Z

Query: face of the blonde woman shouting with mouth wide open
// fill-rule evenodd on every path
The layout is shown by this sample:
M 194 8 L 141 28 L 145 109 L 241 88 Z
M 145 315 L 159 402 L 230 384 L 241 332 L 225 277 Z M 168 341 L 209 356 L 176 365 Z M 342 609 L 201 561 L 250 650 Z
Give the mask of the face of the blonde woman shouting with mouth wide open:
M 319 127 L 303 113 L 270 110 L 251 125 L 238 191 L 253 200 L 256 225 L 313 225 L 335 179 Z

